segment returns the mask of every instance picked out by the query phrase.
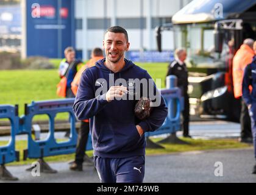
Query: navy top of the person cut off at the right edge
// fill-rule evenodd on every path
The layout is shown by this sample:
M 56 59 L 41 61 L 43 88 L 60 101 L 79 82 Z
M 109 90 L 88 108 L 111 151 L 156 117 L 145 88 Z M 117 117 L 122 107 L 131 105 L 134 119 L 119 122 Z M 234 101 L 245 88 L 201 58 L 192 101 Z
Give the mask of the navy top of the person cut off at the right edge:
M 252 93 L 250 93 L 249 85 L 252 85 Z M 244 69 L 243 99 L 247 105 L 256 103 L 256 55 L 252 63 Z

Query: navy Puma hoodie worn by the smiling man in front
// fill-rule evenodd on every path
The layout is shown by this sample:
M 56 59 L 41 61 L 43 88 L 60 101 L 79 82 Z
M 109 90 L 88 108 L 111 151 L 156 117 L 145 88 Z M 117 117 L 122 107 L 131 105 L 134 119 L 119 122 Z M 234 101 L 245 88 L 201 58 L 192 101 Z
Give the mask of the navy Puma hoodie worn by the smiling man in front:
M 90 118 L 94 155 L 103 158 L 124 158 L 145 154 L 144 134 L 140 137 L 137 124 L 144 132 L 154 131 L 162 126 L 167 116 L 167 108 L 162 96 L 158 107 L 153 107 L 151 116 L 139 121 L 134 115 L 136 100 L 105 100 L 105 93 L 95 96 L 103 85 L 107 90 L 116 79 L 151 79 L 146 70 L 125 60 L 125 66 L 118 73 L 113 73 L 105 65 L 105 59 L 96 62 L 96 66 L 82 73 L 73 110 L 79 120 Z M 98 82 L 103 78 L 107 81 Z M 97 81 L 97 82 L 96 82 Z M 127 86 L 125 86 L 127 87 Z M 154 84 L 154 90 L 157 90 Z M 128 94 L 127 94 L 128 96 Z

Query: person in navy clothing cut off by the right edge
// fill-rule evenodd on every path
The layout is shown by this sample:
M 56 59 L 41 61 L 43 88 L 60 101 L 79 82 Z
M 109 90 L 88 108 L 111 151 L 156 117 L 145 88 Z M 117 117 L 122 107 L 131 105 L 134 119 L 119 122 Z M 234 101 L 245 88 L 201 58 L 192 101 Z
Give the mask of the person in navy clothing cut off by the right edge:
M 254 52 L 256 54 L 256 41 L 254 41 Z M 249 86 L 252 86 L 252 92 Z M 251 116 L 252 140 L 254 143 L 255 165 L 252 174 L 256 174 L 256 56 L 252 63 L 246 66 L 243 77 L 243 99 Z

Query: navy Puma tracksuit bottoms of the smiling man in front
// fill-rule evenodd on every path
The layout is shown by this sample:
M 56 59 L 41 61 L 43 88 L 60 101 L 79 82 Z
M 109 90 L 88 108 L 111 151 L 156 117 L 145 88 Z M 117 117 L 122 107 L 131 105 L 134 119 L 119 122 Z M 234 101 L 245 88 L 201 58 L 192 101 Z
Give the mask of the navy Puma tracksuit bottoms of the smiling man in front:
M 102 158 L 94 156 L 94 165 L 102 183 L 142 183 L 145 156 Z

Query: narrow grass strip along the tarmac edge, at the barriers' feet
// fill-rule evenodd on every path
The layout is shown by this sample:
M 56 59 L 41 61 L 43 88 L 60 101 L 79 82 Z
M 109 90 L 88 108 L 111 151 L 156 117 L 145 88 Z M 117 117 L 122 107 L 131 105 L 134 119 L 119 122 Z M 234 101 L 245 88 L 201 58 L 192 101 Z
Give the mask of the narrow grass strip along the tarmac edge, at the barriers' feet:
M 237 140 L 192 140 L 190 138 L 181 138 L 187 141 L 188 144 L 161 144 L 165 149 L 146 149 L 146 155 L 160 155 L 160 154 L 173 154 L 175 152 L 188 152 L 188 151 L 205 151 L 215 149 L 230 149 L 230 148 L 246 148 L 249 144 L 240 143 Z M 157 139 L 152 139 L 154 142 Z M 7 144 L 0 141 L 0 146 Z M 16 151 L 20 151 L 20 160 L 18 162 L 9 163 L 8 165 L 28 165 L 35 161 L 35 159 L 27 159 L 23 161 L 23 150 L 27 149 L 27 141 L 16 141 Z M 88 156 L 93 155 L 93 151 L 87 151 Z M 74 160 L 74 154 L 57 155 L 54 157 L 44 158 L 47 162 L 52 161 L 69 161 Z

